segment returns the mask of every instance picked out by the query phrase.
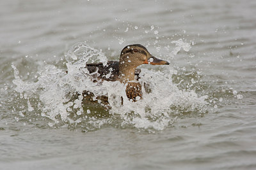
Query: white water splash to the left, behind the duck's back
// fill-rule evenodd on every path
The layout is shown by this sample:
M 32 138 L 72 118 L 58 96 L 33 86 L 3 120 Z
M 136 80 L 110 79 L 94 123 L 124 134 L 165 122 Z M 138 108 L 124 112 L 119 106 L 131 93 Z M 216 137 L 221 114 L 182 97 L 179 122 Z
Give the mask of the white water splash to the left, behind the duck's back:
M 106 95 L 106 90 L 102 90 L 102 87 L 93 88 L 94 84 L 90 76 L 88 76 L 88 71 L 84 69 L 89 59 L 92 61 L 99 60 L 99 62 L 106 65 L 107 60 L 102 52 L 91 48 L 85 43 L 77 43 L 68 51 L 66 59 L 67 74 L 63 69 L 47 65 L 41 75 L 38 76 L 38 81 L 36 82 L 22 81 L 19 77 L 18 69 L 12 64 L 15 75 L 13 83 L 17 85 L 15 90 L 20 93 L 20 96 L 38 97 L 38 103 L 40 104 L 36 105 L 39 105 L 38 109 L 42 111 L 41 115 L 54 120 L 56 124 L 59 123 L 59 120 L 56 119 L 58 115 L 60 115 L 62 121 L 68 121 L 67 118 L 70 115 L 68 112 L 70 103 L 68 101 L 70 101 L 72 93 L 78 92 L 82 94 L 84 89 L 88 89 L 95 92 L 96 95 Z M 73 103 L 74 108 L 79 108 L 77 110 L 78 114 L 83 112 L 81 107 L 82 99 L 83 97 L 78 97 Z

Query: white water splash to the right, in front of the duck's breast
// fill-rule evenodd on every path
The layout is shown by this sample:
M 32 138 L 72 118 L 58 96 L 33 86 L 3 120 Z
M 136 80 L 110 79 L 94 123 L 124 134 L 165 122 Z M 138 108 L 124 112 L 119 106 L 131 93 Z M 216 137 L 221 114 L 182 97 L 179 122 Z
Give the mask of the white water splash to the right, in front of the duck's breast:
M 116 83 L 115 87 L 109 86 L 108 94 L 115 96 L 109 98 L 112 107 L 110 111 L 113 114 L 120 114 L 124 120 L 123 125 L 132 124 L 134 127 L 142 129 L 163 130 L 171 125 L 176 118 L 172 107 L 179 108 L 183 112 L 205 111 L 207 96 L 199 97 L 195 91 L 179 90 L 177 85 L 172 83 L 172 74 L 148 69 L 142 69 L 141 74 L 143 75 L 140 79 L 141 84 L 147 83 L 151 92 L 147 93 L 143 87 L 143 98 L 136 103 L 125 97 L 125 86 L 121 83 Z M 119 90 L 116 91 L 116 89 Z M 121 96 L 124 98 L 124 104 L 116 104 Z M 131 117 L 131 114 L 135 116 Z

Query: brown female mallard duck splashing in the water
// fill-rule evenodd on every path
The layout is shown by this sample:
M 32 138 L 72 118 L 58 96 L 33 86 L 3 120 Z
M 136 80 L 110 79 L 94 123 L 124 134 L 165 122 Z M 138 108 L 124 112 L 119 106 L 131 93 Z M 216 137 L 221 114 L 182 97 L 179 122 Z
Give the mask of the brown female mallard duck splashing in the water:
M 141 64 L 168 65 L 169 62 L 157 59 L 151 55 L 145 46 L 140 44 L 127 45 L 120 54 L 119 61 L 109 61 L 106 66 L 102 63 L 86 64 L 86 68 L 93 77 L 93 81 L 120 81 L 126 83 L 126 96 L 129 100 L 138 101 L 142 97 L 141 84 L 138 82 Z M 95 74 L 94 74 L 95 73 Z M 83 92 L 84 99 L 93 101 L 94 95 Z M 107 96 L 98 96 L 102 104 L 108 104 Z

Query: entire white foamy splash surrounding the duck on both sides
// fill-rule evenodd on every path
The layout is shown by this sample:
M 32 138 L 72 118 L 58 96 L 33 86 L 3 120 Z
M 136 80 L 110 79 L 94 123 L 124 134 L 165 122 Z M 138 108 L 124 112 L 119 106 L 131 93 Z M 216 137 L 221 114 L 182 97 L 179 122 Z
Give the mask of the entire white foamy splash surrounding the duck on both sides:
M 170 57 L 184 48 L 191 46 L 182 39 L 172 41 L 176 48 Z M 173 83 L 172 76 L 176 74 L 171 66 L 162 66 L 164 71 L 141 69 L 140 83 L 143 86 L 143 97 L 138 102 L 129 101 L 125 94 L 125 85 L 119 81 L 103 81 L 93 83 L 86 62 L 102 62 L 107 64 L 107 58 L 100 50 L 86 43 L 77 43 L 65 55 L 65 69 L 47 64 L 44 70 L 38 72 L 37 81 L 22 81 L 19 71 L 12 64 L 19 93 L 19 100 L 26 101 L 24 112 L 40 113 L 47 117 L 49 125 L 81 126 L 84 131 L 98 129 L 102 125 L 114 127 L 136 127 L 138 129 L 163 130 L 184 113 L 200 115 L 207 111 L 207 96 L 198 96 L 194 90 L 180 90 Z M 149 90 L 148 90 L 149 89 Z M 95 97 L 108 96 L 109 107 L 99 105 L 84 106 L 83 91 L 92 92 Z M 121 97 L 124 99 L 121 104 Z M 104 113 L 104 115 L 100 115 Z

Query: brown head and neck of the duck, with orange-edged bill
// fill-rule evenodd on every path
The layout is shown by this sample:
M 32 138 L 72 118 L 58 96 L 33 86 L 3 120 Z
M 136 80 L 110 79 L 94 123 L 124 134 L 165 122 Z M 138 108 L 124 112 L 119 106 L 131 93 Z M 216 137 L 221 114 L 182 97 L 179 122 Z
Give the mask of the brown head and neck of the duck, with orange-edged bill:
M 127 45 L 120 54 L 120 78 L 129 81 L 134 80 L 135 69 L 141 64 L 169 65 L 169 62 L 157 59 L 143 45 Z

